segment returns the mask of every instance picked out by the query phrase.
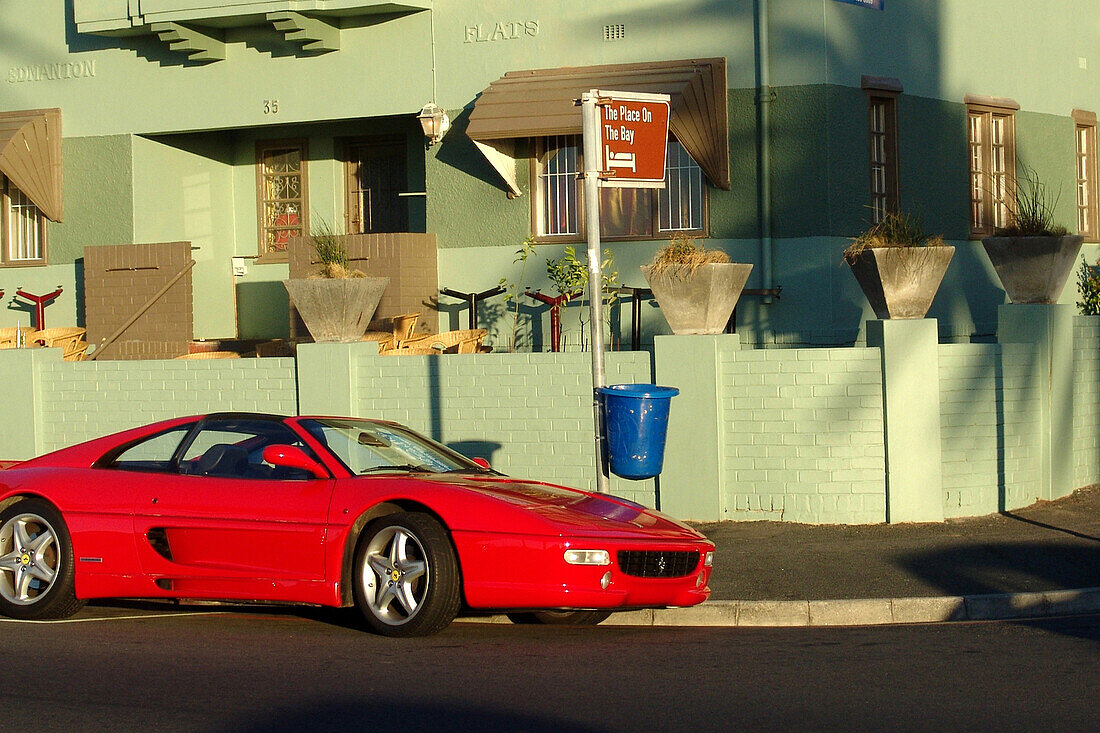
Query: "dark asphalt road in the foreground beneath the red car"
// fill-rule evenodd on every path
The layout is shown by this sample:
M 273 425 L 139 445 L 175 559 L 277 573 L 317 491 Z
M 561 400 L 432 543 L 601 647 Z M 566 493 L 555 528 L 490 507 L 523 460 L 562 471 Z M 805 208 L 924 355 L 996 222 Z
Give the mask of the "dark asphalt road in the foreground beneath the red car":
M 457 623 L 396 641 L 365 633 L 353 613 L 200 611 L 0 621 L 3 727 L 1097 730 L 1100 616 L 855 628 Z

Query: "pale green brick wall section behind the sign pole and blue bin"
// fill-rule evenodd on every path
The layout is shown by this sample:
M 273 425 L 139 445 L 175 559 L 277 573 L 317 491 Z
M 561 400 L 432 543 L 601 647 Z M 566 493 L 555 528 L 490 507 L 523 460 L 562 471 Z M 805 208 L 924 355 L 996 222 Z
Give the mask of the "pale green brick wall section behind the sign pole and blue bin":
M 508 475 L 595 489 L 591 354 L 356 359 L 356 414 L 404 423 Z M 605 371 L 609 384 L 648 383 L 649 353 L 608 353 Z M 613 477 L 610 490 L 656 500 L 652 480 Z

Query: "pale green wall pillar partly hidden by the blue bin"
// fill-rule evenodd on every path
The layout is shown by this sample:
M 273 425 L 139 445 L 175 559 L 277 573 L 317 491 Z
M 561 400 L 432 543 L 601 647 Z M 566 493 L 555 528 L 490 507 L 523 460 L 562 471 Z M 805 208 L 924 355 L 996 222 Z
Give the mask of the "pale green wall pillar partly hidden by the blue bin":
M 740 347 L 735 333 L 658 336 L 653 381 L 674 386 L 664 467 L 658 479 L 660 508 L 681 519 L 726 518 L 722 501 L 722 398 L 719 354 Z

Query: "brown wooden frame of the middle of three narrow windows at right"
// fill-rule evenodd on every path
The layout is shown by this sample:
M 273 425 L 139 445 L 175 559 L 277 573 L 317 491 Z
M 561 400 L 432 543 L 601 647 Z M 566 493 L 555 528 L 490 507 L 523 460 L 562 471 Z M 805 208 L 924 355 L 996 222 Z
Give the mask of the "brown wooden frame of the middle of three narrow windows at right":
M 1015 187 L 1016 187 L 1016 128 L 1015 128 L 1015 113 L 1020 109 L 1020 105 L 1011 99 L 1001 99 L 993 97 L 972 97 L 967 96 L 966 98 L 966 119 L 967 119 L 967 172 L 968 172 L 968 185 L 967 190 L 969 194 L 969 215 L 970 220 L 970 239 L 977 240 L 983 237 L 990 237 L 997 233 L 997 206 L 998 199 L 993 198 L 994 186 L 992 185 L 992 164 L 993 164 L 993 142 L 992 142 L 992 129 L 993 119 L 1003 120 L 1003 131 L 1004 140 L 1001 143 L 1004 153 L 1004 187 L 1002 192 L 1002 206 L 1008 207 L 1005 209 L 1004 225 L 1008 225 L 1009 219 L 1012 217 L 1012 210 L 1009 206 L 1009 201 L 1013 200 Z M 977 143 L 975 142 L 972 135 L 972 121 L 975 119 L 980 119 L 980 130 L 982 133 L 981 140 Z M 975 150 L 977 147 L 977 151 Z M 979 169 L 975 169 L 975 153 L 981 158 L 981 164 Z M 980 177 L 980 183 L 978 187 L 982 190 L 980 198 L 975 196 L 975 178 Z M 975 217 L 976 208 L 981 207 L 981 220 L 979 221 Z

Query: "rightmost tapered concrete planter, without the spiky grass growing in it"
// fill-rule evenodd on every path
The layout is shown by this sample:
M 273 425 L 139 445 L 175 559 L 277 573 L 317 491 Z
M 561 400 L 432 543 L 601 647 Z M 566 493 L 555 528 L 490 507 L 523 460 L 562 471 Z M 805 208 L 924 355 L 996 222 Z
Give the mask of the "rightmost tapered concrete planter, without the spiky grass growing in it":
M 986 254 L 1012 303 L 1053 304 L 1062 297 L 1085 238 L 987 237 Z

